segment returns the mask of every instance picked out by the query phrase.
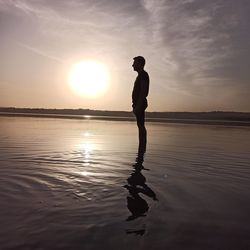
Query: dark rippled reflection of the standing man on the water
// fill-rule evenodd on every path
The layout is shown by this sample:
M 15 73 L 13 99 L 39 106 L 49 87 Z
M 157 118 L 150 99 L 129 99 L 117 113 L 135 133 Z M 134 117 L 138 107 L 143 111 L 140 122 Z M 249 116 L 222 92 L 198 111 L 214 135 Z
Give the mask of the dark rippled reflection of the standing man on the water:
M 142 194 L 154 201 L 158 201 L 155 192 L 146 184 L 146 178 L 142 174 L 142 170 L 150 170 L 143 166 L 145 152 L 146 144 L 139 144 L 136 162 L 132 165 L 132 173 L 127 178 L 127 184 L 124 185 L 124 188 L 128 190 L 127 208 L 131 213 L 126 221 L 146 217 L 149 205 L 146 199 L 142 198 Z M 126 233 L 143 235 L 145 231 L 145 225 L 143 225 L 143 228 L 126 230 Z

